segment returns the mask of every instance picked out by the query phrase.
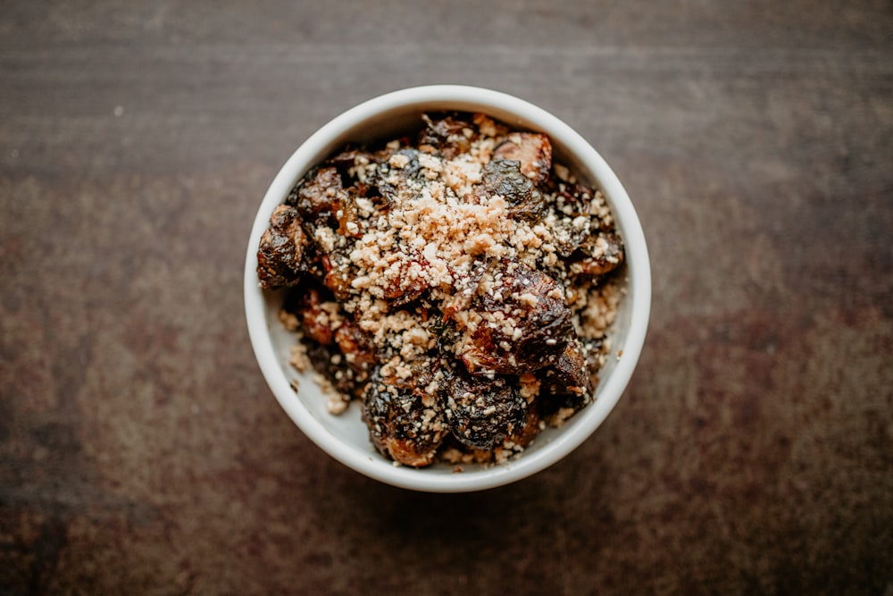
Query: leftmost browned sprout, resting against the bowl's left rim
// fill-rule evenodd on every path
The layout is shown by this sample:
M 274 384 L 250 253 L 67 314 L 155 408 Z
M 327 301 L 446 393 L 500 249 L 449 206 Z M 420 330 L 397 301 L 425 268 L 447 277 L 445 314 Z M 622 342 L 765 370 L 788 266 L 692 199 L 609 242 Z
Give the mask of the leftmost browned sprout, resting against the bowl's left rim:
M 307 237 L 301 216 L 288 205 L 273 209 L 270 225 L 263 231 L 257 248 L 257 279 L 264 289 L 293 286 L 301 280 L 305 267 Z

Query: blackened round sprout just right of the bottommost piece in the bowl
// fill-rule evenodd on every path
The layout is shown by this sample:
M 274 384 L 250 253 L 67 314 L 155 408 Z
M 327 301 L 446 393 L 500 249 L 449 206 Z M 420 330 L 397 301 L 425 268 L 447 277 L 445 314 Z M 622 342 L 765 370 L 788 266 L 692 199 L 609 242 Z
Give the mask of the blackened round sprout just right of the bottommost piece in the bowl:
M 493 449 L 529 430 L 527 400 L 506 377 L 475 377 L 456 366 L 441 387 L 450 432 L 468 447 Z

